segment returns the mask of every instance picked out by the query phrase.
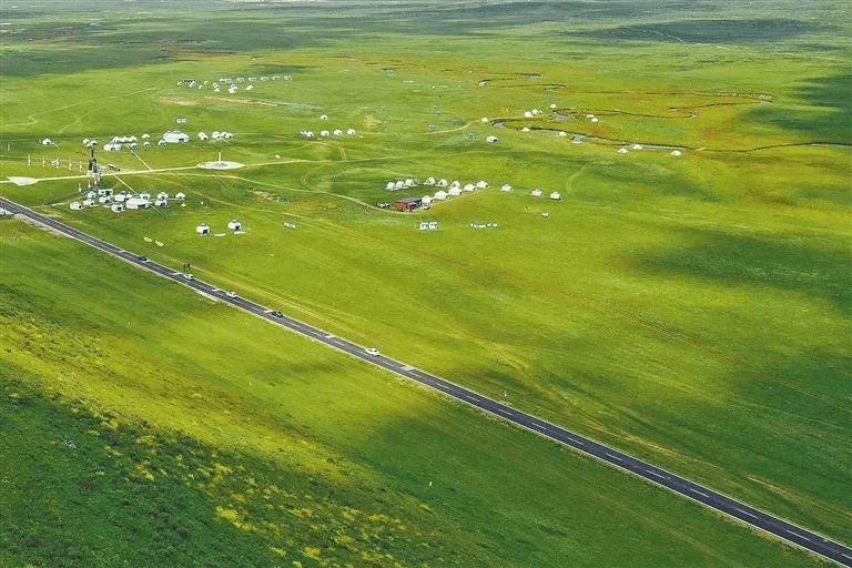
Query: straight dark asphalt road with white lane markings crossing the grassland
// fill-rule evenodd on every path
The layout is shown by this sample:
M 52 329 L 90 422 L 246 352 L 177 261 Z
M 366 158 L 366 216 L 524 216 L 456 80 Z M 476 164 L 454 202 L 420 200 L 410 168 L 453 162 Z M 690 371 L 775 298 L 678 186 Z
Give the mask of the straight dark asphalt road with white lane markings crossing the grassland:
M 469 388 L 465 388 L 450 383 L 449 381 L 429 375 L 426 372 L 414 368 L 389 357 L 385 357 L 384 355 L 369 355 L 361 345 L 356 345 L 344 338 L 336 337 L 322 329 L 312 327 L 297 320 L 293 320 L 292 317 L 287 317 L 286 315 L 275 316 L 272 314 L 272 308 L 266 306 L 255 304 L 254 302 L 250 302 L 242 297 L 229 297 L 225 294 L 225 291 L 216 288 L 199 280 L 186 280 L 183 277 L 181 272 L 178 272 L 174 268 L 170 268 L 168 266 L 163 266 L 162 264 L 156 264 L 151 261 L 141 261 L 135 253 L 124 251 L 113 244 L 82 233 L 73 227 L 59 223 L 58 221 L 18 205 L 17 203 L 13 203 L 9 200 L 0 197 L 0 209 L 4 209 L 12 213 L 29 217 L 37 223 L 45 225 L 72 239 L 77 239 L 78 241 L 81 241 L 88 245 L 100 248 L 141 268 L 149 270 L 165 278 L 170 278 L 185 286 L 189 286 L 196 292 L 207 294 L 219 300 L 220 302 L 225 302 L 258 317 L 263 317 L 270 323 L 286 327 L 287 329 L 300 333 L 314 341 L 322 342 L 329 347 L 334 347 L 335 349 L 347 353 L 353 357 L 358 357 L 368 363 L 396 373 L 397 375 L 402 375 L 412 381 L 416 381 L 417 383 L 439 390 L 447 396 L 452 396 L 457 400 L 467 403 L 471 406 L 475 406 L 476 408 L 493 414 L 494 416 L 532 430 L 536 434 L 565 444 L 566 446 L 570 446 L 578 452 L 582 452 L 584 454 L 601 459 L 610 465 L 623 469 L 625 471 L 638 475 L 656 485 L 670 489 L 718 511 L 724 513 L 726 515 L 741 520 L 742 523 L 747 523 L 762 530 L 765 530 L 767 532 L 782 538 L 788 542 L 808 549 L 843 566 L 852 567 L 852 549 L 850 549 L 850 547 L 833 540 L 829 540 L 815 532 L 803 529 L 784 519 L 750 507 L 744 503 L 740 503 L 728 497 L 727 495 L 722 495 L 702 485 L 690 481 L 689 479 L 684 479 L 670 471 L 667 471 L 666 469 L 656 467 L 651 464 L 648 464 L 647 462 L 637 459 L 628 454 L 618 452 L 617 449 L 605 446 L 604 444 L 595 442 L 585 436 L 580 436 L 579 434 L 575 434 L 560 426 L 550 424 L 540 418 L 536 418 L 535 416 L 523 413 L 516 408 L 513 408 L 511 406 L 498 403 L 497 400 L 483 396 L 475 390 L 470 390 Z

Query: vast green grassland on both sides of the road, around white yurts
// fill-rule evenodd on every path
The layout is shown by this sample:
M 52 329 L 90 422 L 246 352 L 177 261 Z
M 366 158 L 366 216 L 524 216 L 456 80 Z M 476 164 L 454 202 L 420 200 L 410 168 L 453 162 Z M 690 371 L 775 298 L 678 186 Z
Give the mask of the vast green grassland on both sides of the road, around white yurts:
M 116 11 L 100 14 L 94 31 L 89 14 L 54 17 L 68 33 L 39 14 L 3 13 L 33 37 L 3 47 L 3 178 L 73 175 L 67 163 L 84 159 L 81 139 L 156 136 L 178 116 L 193 135 L 229 130 L 239 138 L 154 149 L 140 152 L 142 160 L 100 154 L 123 170 L 108 183 L 183 191 L 185 207 L 70 212 L 84 180 L 3 183 L 0 192 L 160 262 L 190 262 L 204 280 L 849 542 L 852 134 L 849 53 L 836 41 L 848 19 L 828 2 L 814 21 L 798 20 L 792 7 L 769 19 L 702 4 L 671 22 L 651 3 L 648 14 L 620 17 L 575 7 L 569 23 L 558 6 L 525 8 L 526 24 L 510 4 L 478 20 L 442 9 L 440 27 L 413 4 L 396 8 L 388 26 L 365 7 L 352 8 L 359 19 L 323 18 L 307 7 L 170 18 Z M 225 34 L 216 31 L 223 14 Z M 95 44 L 110 54 L 93 55 Z M 230 99 L 175 85 L 184 77 L 273 73 L 294 80 Z M 534 108 L 546 112 L 524 119 Z M 297 134 L 335 128 L 358 134 Z M 571 144 L 558 131 L 587 139 Z M 494 133 L 500 142 L 486 144 Z M 58 145 L 45 150 L 42 138 Z M 628 143 L 645 148 L 616 152 Z M 671 148 L 683 155 L 669 155 Z M 220 150 L 247 166 L 159 171 Z M 28 155 L 39 165 L 28 166 Z M 62 166 L 42 168 L 42 155 Z M 400 196 L 383 191 L 387 181 L 428 175 L 516 191 L 486 190 L 414 215 L 365 210 Z M 536 200 L 532 187 L 565 199 Z M 246 234 L 193 234 L 201 221 L 224 230 L 233 217 Z M 420 233 L 419 220 L 439 221 L 440 230 Z M 485 222 L 499 230 L 469 229 Z M 26 404 L 6 406 L 16 428 L 34 437 L 85 424 L 87 460 L 110 457 L 108 432 L 116 438 L 111 447 L 146 448 L 133 440 L 153 436 L 156 455 L 197 445 L 193 467 L 210 470 L 221 453 L 223 467 L 256 468 L 267 485 L 322 484 L 288 489 L 292 509 L 311 508 L 303 490 L 312 499 L 345 493 L 347 507 L 426 536 L 390 541 L 388 528 L 378 540 L 358 540 L 358 530 L 369 530 L 346 519 L 346 500 L 335 497 L 324 501 L 332 520 L 316 534 L 297 524 L 290 542 L 275 544 L 262 521 L 281 519 L 229 497 L 246 493 L 244 476 L 212 485 L 184 479 L 189 485 L 169 489 L 186 499 L 185 510 L 209 513 L 193 534 L 230 523 L 234 554 L 245 562 L 270 562 L 277 552 L 268 546 L 306 566 L 320 561 L 310 558 L 313 547 L 328 562 L 355 564 L 365 560 L 346 555 L 379 549 L 412 565 L 812 561 L 121 263 L 8 221 L 2 229 L 4 343 L 14 346 L 3 356 L 3 379 L 8 390 L 29 393 Z M 59 262 L 45 267 L 48 257 Z M 90 335 L 99 339 L 80 338 Z M 80 377 L 63 378 L 80 353 L 100 363 L 74 364 Z M 291 378 L 275 378 L 282 374 Z M 55 393 L 68 402 L 52 400 Z M 89 428 L 100 414 L 114 426 Z M 9 450 L 24 456 L 21 448 Z M 67 447 L 45 452 L 57 457 Z M 124 473 L 153 459 L 138 454 L 90 469 L 102 470 L 123 498 L 152 481 L 140 469 Z M 152 483 L 185 476 L 171 458 L 158 464 L 166 474 L 143 467 Z M 458 473 L 452 489 L 425 485 L 447 471 Z M 55 477 L 32 474 L 27 483 L 43 487 Z M 93 483 L 83 477 L 74 479 Z M 658 508 L 645 510 L 651 494 Z M 555 505 L 552 495 L 571 505 Z M 141 499 L 133 503 L 150 500 Z M 21 514 L 21 503 L 4 505 L 3 518 Z M 58 503 L 50 506 L 68 507 Z M 236 513 L 216 520 L 220 509 Z M 108 530 L 92 523 L 87 542 Z M 334 535 L 358 545 L 329 545 Z M 456 555 L 434 550 L 435 535 Z M 38 547 L 17 550 L 12 561 L 49 558 Z M 226 552 L 216 545 L 210 554 Z M 163 558 L 181 564 L 187 556 Z

